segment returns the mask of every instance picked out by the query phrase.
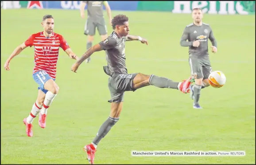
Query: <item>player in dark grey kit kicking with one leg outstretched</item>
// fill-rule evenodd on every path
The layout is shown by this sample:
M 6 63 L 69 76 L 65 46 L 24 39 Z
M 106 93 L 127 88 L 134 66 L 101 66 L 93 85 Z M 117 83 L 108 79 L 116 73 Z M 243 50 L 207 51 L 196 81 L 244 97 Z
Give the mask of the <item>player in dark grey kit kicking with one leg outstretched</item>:
M 87 152 L 89 163 L 93 164 L 94 154 L 98 143 L 110 131 L 111 127 L 119 120 L 120 112 L 123 108 L 124 92 L 135 91 L 144 86 L 156 86 L 159 88 L 171 88 L 180 90 L 183 93 L 190 91 L 190 84 L 196 77 L 193 74 L 189 79 L 183 82 L 174 82 L 171 79 L 159 77 L 157 75 L 144 75 L 142 73 L 128 74 L 125 64 L 125 41 L 140 41 L 147 45 L 147 40 L 140 36 L 129 35 L 128 17 L 125 15 L 116 15 L 112 19 L 113 32 L 110 36 L 88 49 L 77 63 L 73 64 L 71 71 L 76 72 L 79 65 L 89 58 L 94 52 L 105 50 L 107 53 L 108 66 L 104 66 L 104 71 L 109 75 L 109 91 L 111 94 L 110 114 L 107 120 L 101 125 L 93 142 L 84 147 Z

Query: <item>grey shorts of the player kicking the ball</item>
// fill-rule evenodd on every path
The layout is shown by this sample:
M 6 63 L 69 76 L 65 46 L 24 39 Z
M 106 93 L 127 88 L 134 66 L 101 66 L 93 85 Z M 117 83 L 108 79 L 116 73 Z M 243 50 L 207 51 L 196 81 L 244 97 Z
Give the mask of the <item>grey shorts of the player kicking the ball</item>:
M 123 102 L 125 91 L 135 91 L 135 89 L 132 89 L 132 86 L 133 79 L 137 74 L 114 74 L 112 77 L 109 77 L 110 103 Z

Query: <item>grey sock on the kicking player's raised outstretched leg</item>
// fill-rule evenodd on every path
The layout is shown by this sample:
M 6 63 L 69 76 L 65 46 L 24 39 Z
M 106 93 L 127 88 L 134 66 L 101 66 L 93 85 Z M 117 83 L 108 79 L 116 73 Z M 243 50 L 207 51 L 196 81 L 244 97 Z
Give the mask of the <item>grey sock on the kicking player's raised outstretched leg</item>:
M 167 79 L 164 77 L 158 77 L 156 75 L 151 75 L 149 78 L 149 83 L 159 88 L 172 88 L 172 89 L 178 90 L 179 82 L 174 82 L 170 79 Z

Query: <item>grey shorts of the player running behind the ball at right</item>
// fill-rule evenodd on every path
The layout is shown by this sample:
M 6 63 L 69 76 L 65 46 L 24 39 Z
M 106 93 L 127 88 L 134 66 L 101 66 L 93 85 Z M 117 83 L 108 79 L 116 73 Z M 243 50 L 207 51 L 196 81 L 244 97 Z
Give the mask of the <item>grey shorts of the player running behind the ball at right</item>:
M 212 71 L 211 63 L 209 59 L 190 57 L 189 64 L 191 74 L 197 73 L 197 79 L 208 79 L 210 72 Z

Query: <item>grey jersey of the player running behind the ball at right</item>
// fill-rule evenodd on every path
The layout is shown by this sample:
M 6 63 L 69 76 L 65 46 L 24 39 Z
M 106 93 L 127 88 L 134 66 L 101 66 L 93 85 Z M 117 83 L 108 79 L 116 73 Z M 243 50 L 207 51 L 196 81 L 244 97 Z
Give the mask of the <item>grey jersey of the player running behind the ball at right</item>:
M 189 55 L 196 57 L 209 56 L 208 53 L 208 38 L 212 42 L 213 46 L 217 47 L 217 41 L 213 36 L 213 30 L 211 27 L 202 23 L 201 26 L 197 26 L 194 23 L 186 26 L 183 31 L 180 45 L 181 46 L 189 46 Z M 186 42 L 188 40 L 188 42 Z M 200 45 L 198 47 L 193 46 L 193 41 L 199 40 Z

